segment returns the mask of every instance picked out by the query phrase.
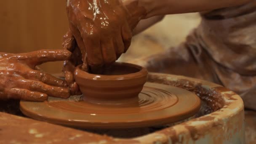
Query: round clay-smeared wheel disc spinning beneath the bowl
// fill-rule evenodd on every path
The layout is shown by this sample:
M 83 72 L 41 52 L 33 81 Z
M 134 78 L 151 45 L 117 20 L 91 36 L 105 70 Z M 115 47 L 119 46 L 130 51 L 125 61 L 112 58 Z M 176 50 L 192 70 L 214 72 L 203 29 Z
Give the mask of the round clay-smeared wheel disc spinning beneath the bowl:
M 20 109 L 37 120 L 79 128 L 165 125 L 189 118 L 200 109 L 200 99 L 195 94 L 156 83 L 146 83 L 137 99 L 88 101 L 83 101 L 83 96 L 49 98 L 45 102 L 21 101 Z

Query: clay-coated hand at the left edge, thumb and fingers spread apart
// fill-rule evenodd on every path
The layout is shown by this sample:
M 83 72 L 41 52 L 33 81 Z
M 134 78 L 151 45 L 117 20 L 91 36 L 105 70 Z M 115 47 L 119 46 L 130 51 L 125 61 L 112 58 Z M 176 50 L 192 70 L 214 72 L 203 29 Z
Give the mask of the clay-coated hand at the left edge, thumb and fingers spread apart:
M 68 98 L 66 82 L 36 70 L 36 66 L 48 61 L 64 61 L 70 56 L 67 50 L 0 53 L 0 99 L 44 101 L 48 96 Z

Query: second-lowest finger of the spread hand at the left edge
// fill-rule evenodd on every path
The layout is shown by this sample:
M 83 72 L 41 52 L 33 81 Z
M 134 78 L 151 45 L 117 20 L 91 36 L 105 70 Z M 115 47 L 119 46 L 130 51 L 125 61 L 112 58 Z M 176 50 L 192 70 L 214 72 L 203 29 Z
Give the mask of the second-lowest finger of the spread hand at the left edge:
M 15 87 L 38 91 L 52 97 L 68 98 L 70 96 L 69 88 L 46 85 L 36 80 L 19 79 L 16 81 Z

